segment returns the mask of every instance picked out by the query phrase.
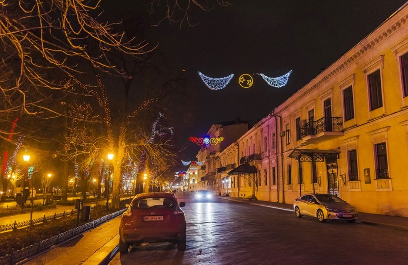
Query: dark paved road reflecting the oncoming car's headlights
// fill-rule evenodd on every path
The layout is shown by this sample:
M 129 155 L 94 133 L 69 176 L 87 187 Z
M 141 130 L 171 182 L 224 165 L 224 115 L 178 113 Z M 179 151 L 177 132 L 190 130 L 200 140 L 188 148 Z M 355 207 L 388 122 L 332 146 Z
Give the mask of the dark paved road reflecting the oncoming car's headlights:
M 408 231 L 298 219 L 291 211 L 217 198 L 186 201 L 187 250 L 142 244 L 109 264 L 408 264 Z

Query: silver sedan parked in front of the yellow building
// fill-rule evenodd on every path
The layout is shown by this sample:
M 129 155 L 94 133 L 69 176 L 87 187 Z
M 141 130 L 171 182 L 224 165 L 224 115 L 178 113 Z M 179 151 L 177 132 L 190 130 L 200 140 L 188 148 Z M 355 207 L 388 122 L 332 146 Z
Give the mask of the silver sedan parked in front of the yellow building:
M 295 200 L 293 210 L 296 217 L 302 215 L 316 217 L 324 223 L 327 220 L 354 222 L 359 213 L 354 206 L 332 194 L 305 194 Z

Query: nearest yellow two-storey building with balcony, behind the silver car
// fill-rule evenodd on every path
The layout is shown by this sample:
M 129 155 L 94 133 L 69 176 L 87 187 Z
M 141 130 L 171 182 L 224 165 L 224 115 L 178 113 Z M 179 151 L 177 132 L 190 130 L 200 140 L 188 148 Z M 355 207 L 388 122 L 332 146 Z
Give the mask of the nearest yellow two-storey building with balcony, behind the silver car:
M 338 194 L 408 217 L 408 6 L 274 110 L 285 202 Z

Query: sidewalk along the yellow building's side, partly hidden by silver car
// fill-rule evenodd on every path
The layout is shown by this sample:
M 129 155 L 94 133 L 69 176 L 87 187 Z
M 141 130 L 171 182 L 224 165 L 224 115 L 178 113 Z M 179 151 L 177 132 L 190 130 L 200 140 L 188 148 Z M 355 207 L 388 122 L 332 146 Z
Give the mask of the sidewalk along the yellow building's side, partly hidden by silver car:
M 293 205 L 287 204 L 287 203 L 248 200 L 248 199 L 240 199 L 240 198 L 234 198 L 234 197 L 219 197 L 219 198 L 250 203 L 253 205 L 267 206 L 267 207 L 273 207 L 273 208 L 282 209 L 282 210 L 293 211 Z M 399 216 L 376 215 L 376 214 L 359 212 L 359 220 L 356 221 L 356 223 L 383 225 L 383 226 L 389 226 L 389 227 L 394 227 L 398 229 L 408 230 L 408 218 L 399 217 Z

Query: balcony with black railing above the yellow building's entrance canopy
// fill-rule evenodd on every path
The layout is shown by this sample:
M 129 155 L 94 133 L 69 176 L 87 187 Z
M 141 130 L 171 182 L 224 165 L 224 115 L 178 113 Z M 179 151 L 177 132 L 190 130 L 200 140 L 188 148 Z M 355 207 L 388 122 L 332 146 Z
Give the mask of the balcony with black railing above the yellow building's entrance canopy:
M 317 121 L 310 121 L 300 125 L 302 140 L 308 144 L 315 144 L 343 136 L 343 118 L 323 117 Z

